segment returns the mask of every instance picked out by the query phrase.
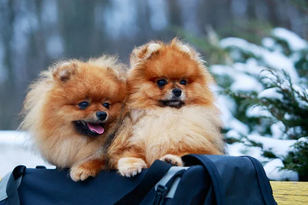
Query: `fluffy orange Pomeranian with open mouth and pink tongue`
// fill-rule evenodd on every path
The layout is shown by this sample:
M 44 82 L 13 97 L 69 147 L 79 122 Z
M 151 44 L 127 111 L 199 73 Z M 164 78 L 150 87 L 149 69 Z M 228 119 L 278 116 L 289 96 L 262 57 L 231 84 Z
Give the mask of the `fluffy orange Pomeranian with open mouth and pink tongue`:
M 34 148 L 57 168 L 70 168 L 74 181 L 105 166 L 104 145 L 114 132 L 126 98 L 117 58 L 68 60 L 43 71 L 30 86 L 20 128 Z

